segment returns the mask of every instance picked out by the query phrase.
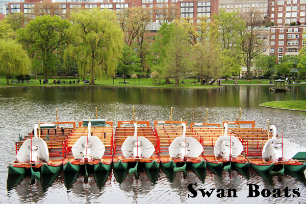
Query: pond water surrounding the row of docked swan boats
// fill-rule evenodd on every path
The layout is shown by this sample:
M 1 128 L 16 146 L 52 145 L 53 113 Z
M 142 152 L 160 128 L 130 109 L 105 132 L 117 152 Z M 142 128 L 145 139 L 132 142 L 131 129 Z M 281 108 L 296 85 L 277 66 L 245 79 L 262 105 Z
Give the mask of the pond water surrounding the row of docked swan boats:
M 40 181 L 31 177 L 7 176 L 7 165 L 14 161 L 15 141 L 18 134 L 29 133 L 40 119 L 55 121 L 58 108 L 60 121 L 82 121 L 95 117 L 114 121 L 133 119 L 133 105 L 138 120 L 168 120 L 173 107 L 173 120 L 201 122 L 208 108 L 208 122 L 221 123 L 236 120 L 241 107 L 241 120 L 254 120 L 257 127 L 267 128 L 267 119 L 274 124 L 277 133 L 284 130 L 284 137 L 306 146 L 306 112 L 278 110 L 260 107 L 260 103 L 274 100 L 306 100 L 305 86 L 290 87 L 287 93 L 270 93 L 269 86 L 224 86 L 217 89 L 171 89 L 171 88 L 128 88 L 128 87 L 18 87 L 0 88 L 0 202 L 4 203 L 150 203 L 150 202 L 235 202 L 241 203 L 305 203 L 306 179 L 303 173 L 286 172 L 285 175 L 259 174 L 251 169 L 247 172 L 169 173 L 139 172 L 137 175 L 83 174 L 42 177 Z M 125 176 L 125 177 L 124 177 Z M 53 181 L 54 180 L 54 181 Z M 52 182 L 53 181 L 53 182 Z M 70 183 L 67 181 L 70 181 Z M 195 184 L 195 198 L 188 190 Z M 248 184 L 259 185 L 259 190 L 268 189 L 271 196 L 247 197 Z M 287 197 L 285 191 L 290 191 Z M 202 197 L 198 189 L 215 189 L 210 197 Z M 217 189 L 236 189 L 237 197 L 217 197 Z M 272 196 L 273 189 L 281 189 L 282 196 Z M 298 189 L 300 196 L 292 193 Z M 227 193 L 225 193 L 227 195 Z M 264 194 L 266 195 L 266 194 Z M 288 197 L 289 196 L 289 197 Z

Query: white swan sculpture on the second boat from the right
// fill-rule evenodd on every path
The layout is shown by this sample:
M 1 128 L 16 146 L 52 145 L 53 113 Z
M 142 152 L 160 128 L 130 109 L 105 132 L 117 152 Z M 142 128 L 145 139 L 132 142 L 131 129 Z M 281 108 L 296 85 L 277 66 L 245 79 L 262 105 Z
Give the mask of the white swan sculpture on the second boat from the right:
M 234 135 L 227 135 L 227 123 L 223 126 L 225 127 L 224 135 L 218 138 L 214 147 L 215 157 L 226 158 L 230 155 L 237 157 L 243 151 L 243 146 Z

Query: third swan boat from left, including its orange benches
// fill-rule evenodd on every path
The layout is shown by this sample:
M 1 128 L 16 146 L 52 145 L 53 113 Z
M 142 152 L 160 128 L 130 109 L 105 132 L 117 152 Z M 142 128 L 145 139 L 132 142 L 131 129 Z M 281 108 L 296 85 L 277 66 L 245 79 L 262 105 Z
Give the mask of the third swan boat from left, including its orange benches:
M 159 169 L 160 160 L 154 153 L 157 152 L 157 139 L 151 127 L 137 127 L 134 121 L 126 121 L 133 124 L 134 135 L 130 127 L 118 126 L 115 133 L 115 151 L 113 157 L 113 167 L 115 170 L 125 170 L 129 168 L 129 164 L 136 163 L 133 168 L 130 168 L 129 173 L 137 172 L 138 162 L 144 164 L 146 169 Z M 143 121 L 145 123 L 145 121 Z M 119 122 L 118 122 L 119 124 Z M 146 124 L 149 124 L 146 123 Z M 122 129 L 123 128 L 123 129 Z M 139 136 L 138 129 L 143 130 Z M 133 136 L 127 136 L 127 135 Z M 127 136 L 127 137 L 126 137 Z M 123 143 L 121 143 L 124 140 Z M 152 144 L 156 143 L 156 146 Z M 121 146 L 121 152 L 118 150 Z M 133 165 L 132 165 L 133 166 Z

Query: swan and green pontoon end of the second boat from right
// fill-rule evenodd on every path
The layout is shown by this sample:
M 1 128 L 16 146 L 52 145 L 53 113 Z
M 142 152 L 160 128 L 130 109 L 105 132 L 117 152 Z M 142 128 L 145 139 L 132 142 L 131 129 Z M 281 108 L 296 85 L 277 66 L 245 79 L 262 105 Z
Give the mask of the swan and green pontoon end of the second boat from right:
M 227 123 L 224 123 L 224 128 L 224 135 L 220 136 L 215 143 L 214 155 L 203 155 L 208 166 L 230 170 L 233 163 L 238 168 L 248 168 L 248 159 L 241 155 L 243 151 L 241 142 L 232 133 L 227 135 Z

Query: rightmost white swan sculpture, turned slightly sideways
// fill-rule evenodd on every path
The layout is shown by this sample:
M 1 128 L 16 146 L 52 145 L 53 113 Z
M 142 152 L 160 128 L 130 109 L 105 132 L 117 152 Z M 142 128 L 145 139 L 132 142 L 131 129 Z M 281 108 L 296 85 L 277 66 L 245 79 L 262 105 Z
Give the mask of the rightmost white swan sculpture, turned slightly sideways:
M 285 138 L 276 138 L 276 127 L 270 126 L 273 131 L 273 137 L 269 139 L 262 151 L 264 161 L 277 161 L 279 158 L 282 160 L 290 160 L 298 150 L 292 142 Z

